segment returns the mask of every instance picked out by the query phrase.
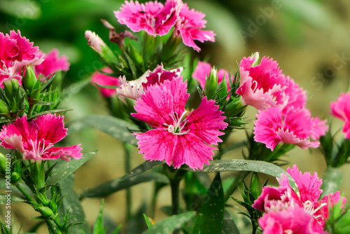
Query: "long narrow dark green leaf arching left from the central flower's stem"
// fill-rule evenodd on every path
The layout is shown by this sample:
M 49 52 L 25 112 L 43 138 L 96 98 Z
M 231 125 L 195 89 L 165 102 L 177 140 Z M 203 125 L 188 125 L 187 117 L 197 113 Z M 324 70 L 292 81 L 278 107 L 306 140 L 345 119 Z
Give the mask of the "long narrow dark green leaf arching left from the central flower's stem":
M 135 184 L 140 184 L 148 181 L 157 181 L 164 184 L 169 184 L 169 179 L 164 174 L 148 172 L 127 179 L 112 179 L 105 182 L 104 184 L 90 188 L 89 190 L 85 191 L 85 193 L 83 193 L 80 198 L 104 197 L 106 195 L 110 195 L 111 193 L 116 193 L 117 191 L 120 191 L 124 188 L 129 188 Z

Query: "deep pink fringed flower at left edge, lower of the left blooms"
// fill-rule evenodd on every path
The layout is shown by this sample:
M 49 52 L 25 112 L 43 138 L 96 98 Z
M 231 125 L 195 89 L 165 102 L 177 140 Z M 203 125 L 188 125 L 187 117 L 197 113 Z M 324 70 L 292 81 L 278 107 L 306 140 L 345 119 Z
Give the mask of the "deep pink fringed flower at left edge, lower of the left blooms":
M 31 122 L 27 116 L 17 118 L 14 123 L 4 125 L 0 132 L 1 146 L 5 149 L 16 149 L 23 154 L 25 160 L 55 160 L 62 158 L 79 159 L 82 149 L 76 146 L 55 147 L 54 144 L 66 136 L 63 116 L 51 113 L 38 116 Z M 71 157 L 71 158 L 69 158 Z

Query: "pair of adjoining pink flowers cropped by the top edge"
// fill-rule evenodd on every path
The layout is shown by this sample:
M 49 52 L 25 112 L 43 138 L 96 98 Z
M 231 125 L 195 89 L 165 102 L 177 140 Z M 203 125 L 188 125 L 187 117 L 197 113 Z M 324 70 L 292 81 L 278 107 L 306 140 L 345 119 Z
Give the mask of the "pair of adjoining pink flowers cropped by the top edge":
M 214 32 L 203 30 L 207 23 L 204 14 L 188 8 L 181 0 L 167 0 L 165 4 L 158 1 L 125 1 L 120 11 L 114 12 L 118 22 L 127 25 L 133 32 L 141 30 L 150 35 L 163 36 L 174 27 L 174 36 L 181 35 L 183 43 L 197 52 L 200 48 L 194 40 L 215 41 Z

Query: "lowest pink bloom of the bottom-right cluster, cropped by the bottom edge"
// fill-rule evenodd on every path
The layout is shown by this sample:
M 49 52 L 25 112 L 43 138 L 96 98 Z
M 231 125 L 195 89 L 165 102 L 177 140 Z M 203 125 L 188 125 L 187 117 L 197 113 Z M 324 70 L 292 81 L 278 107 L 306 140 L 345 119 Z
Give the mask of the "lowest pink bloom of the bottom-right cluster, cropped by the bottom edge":
M 288 207 L 262 214 L 258 219 L 262 234 L 317 234 L 312 229 L 313 217 L 302 207 Z M 321 232 L 323 233 L 323 232 Z

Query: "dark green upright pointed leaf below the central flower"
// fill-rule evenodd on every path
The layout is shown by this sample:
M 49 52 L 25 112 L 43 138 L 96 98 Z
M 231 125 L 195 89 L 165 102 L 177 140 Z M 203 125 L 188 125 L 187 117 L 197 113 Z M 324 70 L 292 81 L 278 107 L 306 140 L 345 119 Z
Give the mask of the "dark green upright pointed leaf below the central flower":
M 193 234 L 221 233 L 224 209 L 223 184 L 220 173 L 218 173 L 211 182 L 207 196 L 204 198 L 200 213 L 195 221 Z

